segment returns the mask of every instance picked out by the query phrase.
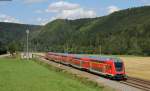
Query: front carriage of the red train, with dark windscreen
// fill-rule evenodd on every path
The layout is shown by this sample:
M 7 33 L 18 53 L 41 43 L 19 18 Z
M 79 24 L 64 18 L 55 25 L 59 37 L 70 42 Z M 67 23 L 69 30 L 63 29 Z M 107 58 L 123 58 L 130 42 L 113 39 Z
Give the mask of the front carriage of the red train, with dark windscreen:
M 90 61 L 90 71 L 112 79 L 126 78 L 124 63 L 119 58 L 94 58 Z

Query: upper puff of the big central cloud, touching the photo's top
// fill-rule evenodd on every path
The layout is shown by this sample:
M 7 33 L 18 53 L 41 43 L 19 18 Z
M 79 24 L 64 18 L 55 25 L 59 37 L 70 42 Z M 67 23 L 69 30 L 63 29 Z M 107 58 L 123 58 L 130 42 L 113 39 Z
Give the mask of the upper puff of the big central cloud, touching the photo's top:
M 58 1 L 51 3 L 46 9 L 46 12 L 60 12 L 62 10 L 73 10 L 80 8 L 79 4 L 69 3 L 65 1 Z

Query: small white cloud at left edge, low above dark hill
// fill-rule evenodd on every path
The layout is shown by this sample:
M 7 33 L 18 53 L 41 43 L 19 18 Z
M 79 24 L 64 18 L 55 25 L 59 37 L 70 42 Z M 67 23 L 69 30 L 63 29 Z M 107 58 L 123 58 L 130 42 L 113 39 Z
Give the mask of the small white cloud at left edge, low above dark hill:
M 5 15 L 5 14 L 0 14 L 0 22 L 20 23 L 19 19 L 16 19 L 12 16 L 8 16 L 8 15 Z

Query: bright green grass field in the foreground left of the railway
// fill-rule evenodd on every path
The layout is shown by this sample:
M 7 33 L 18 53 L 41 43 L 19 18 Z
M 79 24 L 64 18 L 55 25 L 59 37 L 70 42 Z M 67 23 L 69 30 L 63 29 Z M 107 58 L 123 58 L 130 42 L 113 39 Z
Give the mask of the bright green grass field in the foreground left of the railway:
M 0 91 L 106 91 L 34 61 L 0 59 Z M 107 90 L 108 91 L 108 90 Z

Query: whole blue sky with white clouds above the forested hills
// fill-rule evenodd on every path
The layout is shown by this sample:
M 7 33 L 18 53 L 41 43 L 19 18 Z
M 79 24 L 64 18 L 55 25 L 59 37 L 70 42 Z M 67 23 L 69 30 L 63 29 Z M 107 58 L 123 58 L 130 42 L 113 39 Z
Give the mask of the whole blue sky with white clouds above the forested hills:
M 12 0 L 0 1 L 0 22 L 46 24 L 55 19 L 94 18 L 150 5 L 150 0 Z

